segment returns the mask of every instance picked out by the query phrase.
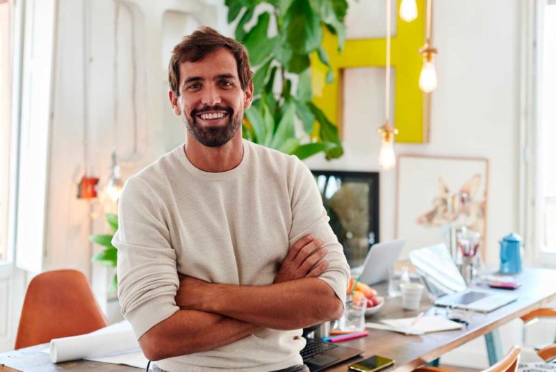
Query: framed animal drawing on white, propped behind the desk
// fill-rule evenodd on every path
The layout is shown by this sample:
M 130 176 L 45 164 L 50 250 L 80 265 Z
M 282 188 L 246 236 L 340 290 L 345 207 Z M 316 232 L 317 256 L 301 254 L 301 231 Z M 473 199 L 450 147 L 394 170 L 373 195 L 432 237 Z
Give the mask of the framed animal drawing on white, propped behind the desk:
M 484 158 L 402 155 L 398 158 L 395 236 L 402 255 L 436 243 L 450 247 L 450 229 L 481 234 L 484 257 L 489 161 Z

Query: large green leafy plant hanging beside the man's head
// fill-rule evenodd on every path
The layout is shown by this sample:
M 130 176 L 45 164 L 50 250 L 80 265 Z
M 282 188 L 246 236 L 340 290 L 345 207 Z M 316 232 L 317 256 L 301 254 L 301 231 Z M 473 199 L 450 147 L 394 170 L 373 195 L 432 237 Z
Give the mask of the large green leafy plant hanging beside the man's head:
M 322 48 L 322 34 L 326 28 L 338 35 L 338 49 L 343 48 L 347 1 L 226 0 L 225 3 L 229 10 L 228 22 L 235 22 L 236 40 L 247 48 L 255 71 L 254 102 L 245 112 L 243 136 L 300 159 L 319 152 L 325 152 L 327 159 L 341 156 L 338 128 L 312 102 L 309 56 L 316 53 L 329 67 L 326 79 L 332 82 L 334 76 Z M 253 22 L 255 13 L 259 15 Z M 247 28 L 247 24 L 253 26 Z M 296 134 L 295 122 L 302 123 L 304 133 Z

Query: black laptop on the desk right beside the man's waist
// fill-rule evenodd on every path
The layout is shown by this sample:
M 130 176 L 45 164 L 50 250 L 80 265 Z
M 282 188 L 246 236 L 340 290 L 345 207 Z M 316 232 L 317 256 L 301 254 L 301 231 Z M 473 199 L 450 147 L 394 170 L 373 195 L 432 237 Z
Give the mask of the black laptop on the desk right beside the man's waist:
M 309 371 L 321 371 L 322 369 L 344 362 L 352 357 L 357 357 L 363 353 L 363 350 L 307 337 L 307 335 L 313 332 L 313 330 L 316 330 L 318 326 L 319 325 L 313 325 L 313 327 L 304 328 L 303 330 L 303 337 L 306 339 L 307 343 L 300 353 L 303 358 L 303 363 L 309 367 Z

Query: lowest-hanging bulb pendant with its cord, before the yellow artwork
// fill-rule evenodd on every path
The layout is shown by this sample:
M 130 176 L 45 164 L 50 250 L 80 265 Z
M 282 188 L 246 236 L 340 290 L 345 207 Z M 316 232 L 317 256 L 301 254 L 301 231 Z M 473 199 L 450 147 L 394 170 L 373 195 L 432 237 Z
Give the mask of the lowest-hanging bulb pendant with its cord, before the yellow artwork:
M 378 156 L 378 163 L 382 170 L 389 170 L 395 167 L 394 136 L 398 134 L 398 129 L 395 129 L 392 124 L 390 124 L 391 17 L 391 0 L 386 0 L 386 92 L 384 97 L 386 122 L 377 130 L 382 138 L 382 145 Z

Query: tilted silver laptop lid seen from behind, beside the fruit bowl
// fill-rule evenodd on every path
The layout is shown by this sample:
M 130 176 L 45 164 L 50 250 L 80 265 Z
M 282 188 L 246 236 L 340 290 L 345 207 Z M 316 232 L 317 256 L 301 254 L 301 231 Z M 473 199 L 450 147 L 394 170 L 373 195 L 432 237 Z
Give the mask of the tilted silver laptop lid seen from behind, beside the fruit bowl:
M 404 244 L 405 240 L 399 239 L 373 245 L 363 265 L 352 268 L 352 277 L 359 277 L 359 282 L 369 285 L 388 280 L 389 269 L 398 260 Z

